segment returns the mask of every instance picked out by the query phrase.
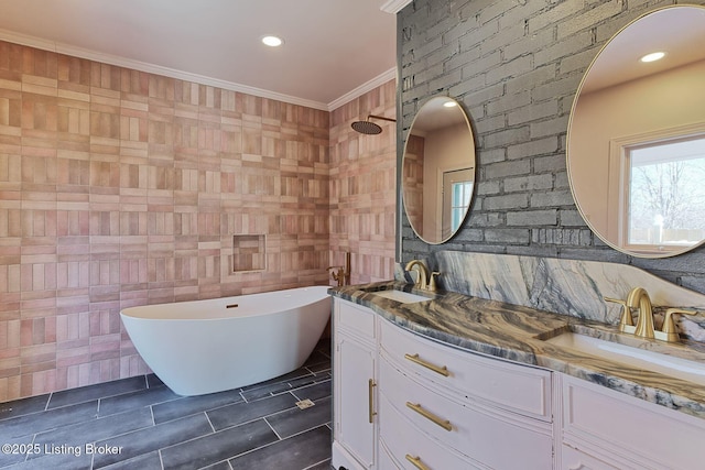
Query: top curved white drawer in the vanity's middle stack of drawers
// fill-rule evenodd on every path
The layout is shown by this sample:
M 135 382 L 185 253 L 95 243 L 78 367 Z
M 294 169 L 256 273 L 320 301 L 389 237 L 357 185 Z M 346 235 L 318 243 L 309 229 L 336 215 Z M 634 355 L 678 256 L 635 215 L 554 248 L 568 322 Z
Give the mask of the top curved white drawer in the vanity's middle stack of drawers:
M 412 375 L 430 380 L 463 396 L 551 420 L 551 372 L 460 351 L 381 321 L 386 356 Z M 446 368 L 444 375 L 431 368 Z

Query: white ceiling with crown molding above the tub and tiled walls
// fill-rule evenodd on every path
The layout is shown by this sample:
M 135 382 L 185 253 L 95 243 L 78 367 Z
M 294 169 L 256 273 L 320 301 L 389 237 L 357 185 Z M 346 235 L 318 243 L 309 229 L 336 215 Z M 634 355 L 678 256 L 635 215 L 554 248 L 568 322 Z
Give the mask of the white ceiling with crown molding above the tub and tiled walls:
M 409 2 L 2 0 L 0 40 L 332 110 L 395 78 Z

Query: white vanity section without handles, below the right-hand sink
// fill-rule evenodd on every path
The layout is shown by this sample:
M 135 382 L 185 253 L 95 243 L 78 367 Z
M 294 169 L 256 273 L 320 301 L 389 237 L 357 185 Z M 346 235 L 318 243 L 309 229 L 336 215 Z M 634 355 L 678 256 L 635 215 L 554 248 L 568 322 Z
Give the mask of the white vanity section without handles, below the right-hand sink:
M 565 374 L 561 469 L 705 468 L 705 419 Z

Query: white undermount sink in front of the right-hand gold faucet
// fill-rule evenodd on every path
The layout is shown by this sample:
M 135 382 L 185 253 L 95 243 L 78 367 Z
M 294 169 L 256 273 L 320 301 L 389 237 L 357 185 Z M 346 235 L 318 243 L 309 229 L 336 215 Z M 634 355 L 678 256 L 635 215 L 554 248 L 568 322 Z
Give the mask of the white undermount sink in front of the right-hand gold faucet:
M 653 342 L 633 338 L 637 346 L 627 346 L 575 331 L 566 331 L 545 339 L 545 342 L 570 348 L 584 354 L 607 359 L 632 369 L 649 370 L 663 375 L 686 380 L 705 385 L 705 362 L 683 359 L 664 352 L 655 352 L 639 347 L 649 347 Z M 663 346 L 662 349 L 668 349 Z

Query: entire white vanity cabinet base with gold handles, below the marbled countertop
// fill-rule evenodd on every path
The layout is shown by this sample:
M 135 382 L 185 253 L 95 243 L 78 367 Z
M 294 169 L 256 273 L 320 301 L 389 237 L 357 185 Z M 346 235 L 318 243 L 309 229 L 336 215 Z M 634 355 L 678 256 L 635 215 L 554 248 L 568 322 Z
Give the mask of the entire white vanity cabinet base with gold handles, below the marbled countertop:
M 693 470 L 705 419 L 453 348 L 335 298 L 336 470 Z

